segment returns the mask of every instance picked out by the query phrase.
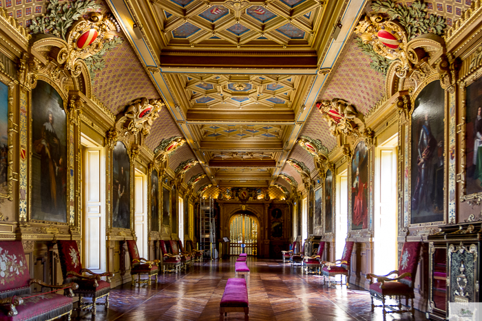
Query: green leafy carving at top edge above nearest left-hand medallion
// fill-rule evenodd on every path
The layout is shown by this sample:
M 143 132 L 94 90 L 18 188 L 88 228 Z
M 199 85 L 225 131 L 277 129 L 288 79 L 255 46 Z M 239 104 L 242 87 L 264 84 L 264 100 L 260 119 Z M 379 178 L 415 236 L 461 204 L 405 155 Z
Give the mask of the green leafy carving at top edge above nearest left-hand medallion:
M 95 0 L 59 3 L 59 0 L 50 0 L 47 12 L 43 16 L 32 19 L 30 30 L 34 34 L 53 34 L 65 40 L 68 28 L 83 14 L 100 9 L 101 5 Z

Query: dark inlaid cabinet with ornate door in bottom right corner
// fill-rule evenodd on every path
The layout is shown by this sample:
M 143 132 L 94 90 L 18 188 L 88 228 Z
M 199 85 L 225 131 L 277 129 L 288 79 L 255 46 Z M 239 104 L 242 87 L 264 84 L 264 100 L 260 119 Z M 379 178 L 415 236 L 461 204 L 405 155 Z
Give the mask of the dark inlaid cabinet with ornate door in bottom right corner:
M 448 302 L 481 302 L 482 222 L 447 225 L 428 236 L 427 318 L 448 320 Z

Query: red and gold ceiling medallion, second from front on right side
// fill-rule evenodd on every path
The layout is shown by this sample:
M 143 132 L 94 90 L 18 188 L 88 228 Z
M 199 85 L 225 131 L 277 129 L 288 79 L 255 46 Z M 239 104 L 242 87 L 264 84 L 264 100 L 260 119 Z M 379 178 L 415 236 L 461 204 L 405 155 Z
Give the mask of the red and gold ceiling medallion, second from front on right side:
M 316 107 L 322 113 L 323 119 L 328 122 L 333 137 L 339 137 L 342 134 L 358 137 L 364 132 L 364 115 L 359 113 L 353 104 L 333 98 L 331 101 L 317 102 Z

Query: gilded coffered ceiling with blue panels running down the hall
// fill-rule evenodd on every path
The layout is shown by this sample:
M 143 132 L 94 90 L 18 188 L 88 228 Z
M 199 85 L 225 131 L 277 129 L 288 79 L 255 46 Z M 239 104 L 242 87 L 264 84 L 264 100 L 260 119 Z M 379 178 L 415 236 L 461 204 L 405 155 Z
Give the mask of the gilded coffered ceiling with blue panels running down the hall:
M 107 3 L 198 159 L 197 172 L 207 173 L 198 185 L 286 186 L 277 177 L 283 168 L 300 182 L 284 164 L 365 0 Z M 300 148 L 293 155 L 313 167 Z

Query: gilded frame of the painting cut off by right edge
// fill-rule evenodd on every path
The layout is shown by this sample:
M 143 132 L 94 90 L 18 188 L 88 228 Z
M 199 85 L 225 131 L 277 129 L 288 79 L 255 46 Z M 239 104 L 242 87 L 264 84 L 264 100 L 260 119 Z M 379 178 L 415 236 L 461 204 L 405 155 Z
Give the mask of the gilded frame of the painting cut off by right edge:
M 471 165 L 471 160 L 469 159 L 472 153 L 476 153 L 474 150 L 474 137 L 470 140 L 471 134 L 474 134 L 474 129 L 470 130 L 470 123 L 473 122 L 472 115 L 469 113 L 475 109 L 471 106 L 471 99 L 468 97 L 468 88 L 474 85 L 480 85 L 482 89 L 482 68 L 474 71 L 470 77 L 462 80 L 460 82 L 460 116 L 459 125 L 457 126 L 457 132 L 461 135 L 460 140 L 460 171 L 457 174 L 457 182 L 460 184 L 460 201 L 468 201 L 470 203 L 481 203 L 482 202 L 482 186 L 480 191 L 474 191 L 474 188 L 468 188 L 468 183 L 470 179 L 468 176 L 469 166 Z M 482 106 L 482 105 L 481 105 Z M 472 143 L 472 144 L 471 144 Z M 472 161 L 473 162 L 473 161 Z M 470 189 L 470 191 L 468 191 Z

